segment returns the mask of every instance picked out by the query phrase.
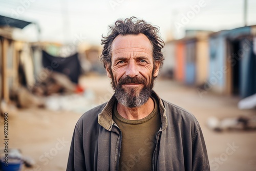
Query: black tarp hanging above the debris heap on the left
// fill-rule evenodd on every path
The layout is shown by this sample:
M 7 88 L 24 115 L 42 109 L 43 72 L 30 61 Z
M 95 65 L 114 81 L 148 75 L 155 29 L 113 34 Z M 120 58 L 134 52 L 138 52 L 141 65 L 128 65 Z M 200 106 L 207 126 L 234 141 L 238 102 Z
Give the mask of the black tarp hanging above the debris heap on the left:
M 78 83 L 78 77 L 81 74 L 80 61 L 78 53 L 69 57 L 55 57 L 42 51 L 42 66 L 67 75 L 74 83 Z

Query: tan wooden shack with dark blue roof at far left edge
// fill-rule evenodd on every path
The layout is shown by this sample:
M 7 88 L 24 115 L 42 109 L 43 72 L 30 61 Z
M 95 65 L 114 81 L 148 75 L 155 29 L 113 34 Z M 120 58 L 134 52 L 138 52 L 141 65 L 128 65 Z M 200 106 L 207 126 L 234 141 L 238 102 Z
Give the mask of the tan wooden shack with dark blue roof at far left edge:
M 23 29 L 31 22 L 0 15 L 0 99 L 7 103 L 18 87 L 18 69 L 23 42 L 14 40 L 14 28 Z

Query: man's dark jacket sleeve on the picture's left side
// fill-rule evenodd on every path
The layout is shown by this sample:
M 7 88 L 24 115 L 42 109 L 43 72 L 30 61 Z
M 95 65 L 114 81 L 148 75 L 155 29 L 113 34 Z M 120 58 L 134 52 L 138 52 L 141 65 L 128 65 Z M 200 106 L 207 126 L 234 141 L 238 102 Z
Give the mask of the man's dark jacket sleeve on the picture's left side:
M 67 165 L 67 171 L 83 171 L 86 170 L 86 163 L 84 159 L 82 134 L 79 130 L 78 124 L 76 124 L 72 142 L 70 146 L 69 159 Z

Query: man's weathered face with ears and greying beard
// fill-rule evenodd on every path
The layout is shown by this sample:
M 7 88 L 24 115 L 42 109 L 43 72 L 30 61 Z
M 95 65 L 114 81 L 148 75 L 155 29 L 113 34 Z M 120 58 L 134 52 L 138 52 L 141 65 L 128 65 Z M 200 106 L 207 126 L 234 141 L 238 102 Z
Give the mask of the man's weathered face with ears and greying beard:
M 118 102 L 139 107 L 150 98 L 160 64 L 153 62 L 152 45 L 144 35 L 118 35 L 112 44 L 112 65 L 106 67 Z

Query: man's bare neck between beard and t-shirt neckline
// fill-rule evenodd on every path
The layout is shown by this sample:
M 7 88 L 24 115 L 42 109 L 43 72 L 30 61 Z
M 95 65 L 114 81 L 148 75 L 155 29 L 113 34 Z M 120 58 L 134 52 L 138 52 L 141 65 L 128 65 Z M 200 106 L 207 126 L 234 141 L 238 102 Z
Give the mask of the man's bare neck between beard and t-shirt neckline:
M 149 115 L 154 110 L 154 100 L 150 97 L 145 104 L 138 108 L 127 108 L 117 103 L 117 112 L 125 119 L 139 120 Z

